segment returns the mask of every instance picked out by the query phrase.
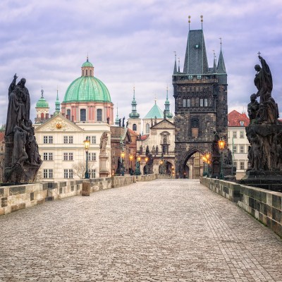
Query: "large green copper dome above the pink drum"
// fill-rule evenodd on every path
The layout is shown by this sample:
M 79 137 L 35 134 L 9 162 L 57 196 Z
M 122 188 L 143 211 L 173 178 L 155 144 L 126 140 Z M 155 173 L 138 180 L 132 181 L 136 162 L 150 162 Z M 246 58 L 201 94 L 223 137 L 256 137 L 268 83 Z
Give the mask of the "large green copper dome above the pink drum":
M 111 102 L 111 96 L 101 80 L 94 76 L 81 76 L 71 82 L 63 102 Z

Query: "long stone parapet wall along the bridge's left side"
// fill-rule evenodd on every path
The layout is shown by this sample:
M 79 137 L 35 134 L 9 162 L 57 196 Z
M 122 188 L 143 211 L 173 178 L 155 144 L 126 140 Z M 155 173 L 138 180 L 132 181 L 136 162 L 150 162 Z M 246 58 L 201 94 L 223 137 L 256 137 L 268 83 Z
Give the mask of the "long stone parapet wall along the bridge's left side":
M 114 176 L 90 180 L 72 180 L 58 183 L 35 183 L 17 186 L 0 186 L 0 215 L 16 212 L 19 209 L 42 204 L 45 201 L 60 200 L 65 197 L 81 195 L 82 183 L 90 183 L 90 192 L 156 179 L 156 174 L 147 176 Z

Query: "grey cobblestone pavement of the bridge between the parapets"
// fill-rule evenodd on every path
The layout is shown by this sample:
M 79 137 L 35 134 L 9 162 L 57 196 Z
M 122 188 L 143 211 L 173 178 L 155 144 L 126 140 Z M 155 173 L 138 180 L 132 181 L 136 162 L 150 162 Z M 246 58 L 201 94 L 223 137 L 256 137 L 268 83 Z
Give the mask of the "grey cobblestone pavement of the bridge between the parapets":
M 282 240 L 197 180 L 0 216 L 0 281 L 282 281 Z

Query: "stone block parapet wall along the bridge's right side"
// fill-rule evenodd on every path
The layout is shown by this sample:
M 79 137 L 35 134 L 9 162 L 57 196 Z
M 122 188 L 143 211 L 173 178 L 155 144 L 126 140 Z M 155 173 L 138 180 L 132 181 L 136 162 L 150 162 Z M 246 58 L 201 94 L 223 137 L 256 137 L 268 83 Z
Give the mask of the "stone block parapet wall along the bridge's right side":
M 206 177 L 201 178 L 201 183 L 236 202 L 255 219 L 282 236 L 282 193 Z

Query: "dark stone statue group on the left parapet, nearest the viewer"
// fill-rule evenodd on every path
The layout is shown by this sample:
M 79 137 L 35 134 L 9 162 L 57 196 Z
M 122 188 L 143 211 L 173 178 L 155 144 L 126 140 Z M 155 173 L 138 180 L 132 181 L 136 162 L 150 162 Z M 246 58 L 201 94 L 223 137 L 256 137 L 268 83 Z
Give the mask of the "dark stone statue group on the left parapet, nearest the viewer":
M 30 121 L 30 93 L 25 78 L 16 84 L 17 78 L 15 74 L 8 88 L 4 183 L 34 181 L 42 164 Z

